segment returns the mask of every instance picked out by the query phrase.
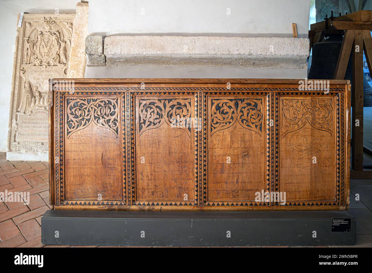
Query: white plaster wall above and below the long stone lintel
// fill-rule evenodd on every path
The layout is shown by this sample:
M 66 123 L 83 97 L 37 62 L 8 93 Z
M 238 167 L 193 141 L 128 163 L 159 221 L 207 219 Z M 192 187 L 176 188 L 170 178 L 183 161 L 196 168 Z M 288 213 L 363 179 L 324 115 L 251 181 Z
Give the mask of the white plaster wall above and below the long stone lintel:
M 230 15 L 228 15 L 230 9 Z M 310 0 L 90 0 L 90 35 L 308 37 Z M 307 69 L 87 67 L 86 78 L 306 78 Z

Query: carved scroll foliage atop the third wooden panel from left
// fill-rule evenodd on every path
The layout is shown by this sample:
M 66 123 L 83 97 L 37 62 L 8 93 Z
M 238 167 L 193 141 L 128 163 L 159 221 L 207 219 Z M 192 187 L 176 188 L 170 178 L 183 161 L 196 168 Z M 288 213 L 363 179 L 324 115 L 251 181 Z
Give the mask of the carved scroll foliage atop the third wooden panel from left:
M 261 135 L 262 113 L 262 99 L 212 99 L 211 135 L 231 127 L 235 121 Z

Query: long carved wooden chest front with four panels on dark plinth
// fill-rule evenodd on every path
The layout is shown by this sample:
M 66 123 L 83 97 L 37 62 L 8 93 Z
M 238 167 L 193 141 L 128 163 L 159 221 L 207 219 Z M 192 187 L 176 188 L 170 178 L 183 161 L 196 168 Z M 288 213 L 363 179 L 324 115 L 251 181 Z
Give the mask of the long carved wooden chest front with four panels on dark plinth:
M 350 85 L 54 79 L 54 209 L 349 206 Z

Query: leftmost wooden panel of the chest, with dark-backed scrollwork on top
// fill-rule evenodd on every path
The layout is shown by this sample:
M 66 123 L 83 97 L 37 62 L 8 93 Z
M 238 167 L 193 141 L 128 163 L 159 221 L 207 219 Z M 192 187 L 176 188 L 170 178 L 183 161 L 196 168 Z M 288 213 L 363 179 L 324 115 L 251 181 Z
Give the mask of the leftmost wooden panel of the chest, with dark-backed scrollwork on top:
M 66 94 L 63 103 L 65 203 L 125 204 L 121 95 Z

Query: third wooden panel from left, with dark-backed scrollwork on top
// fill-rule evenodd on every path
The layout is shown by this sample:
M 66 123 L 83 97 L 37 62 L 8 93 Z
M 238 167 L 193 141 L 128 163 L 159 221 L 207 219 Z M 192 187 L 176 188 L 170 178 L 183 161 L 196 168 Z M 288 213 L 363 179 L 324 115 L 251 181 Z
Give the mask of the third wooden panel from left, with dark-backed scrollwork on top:
M 206 205 L 269 204 L 255 202 L 270 191 L 268 103 L 269 94 L 208 95 Z

